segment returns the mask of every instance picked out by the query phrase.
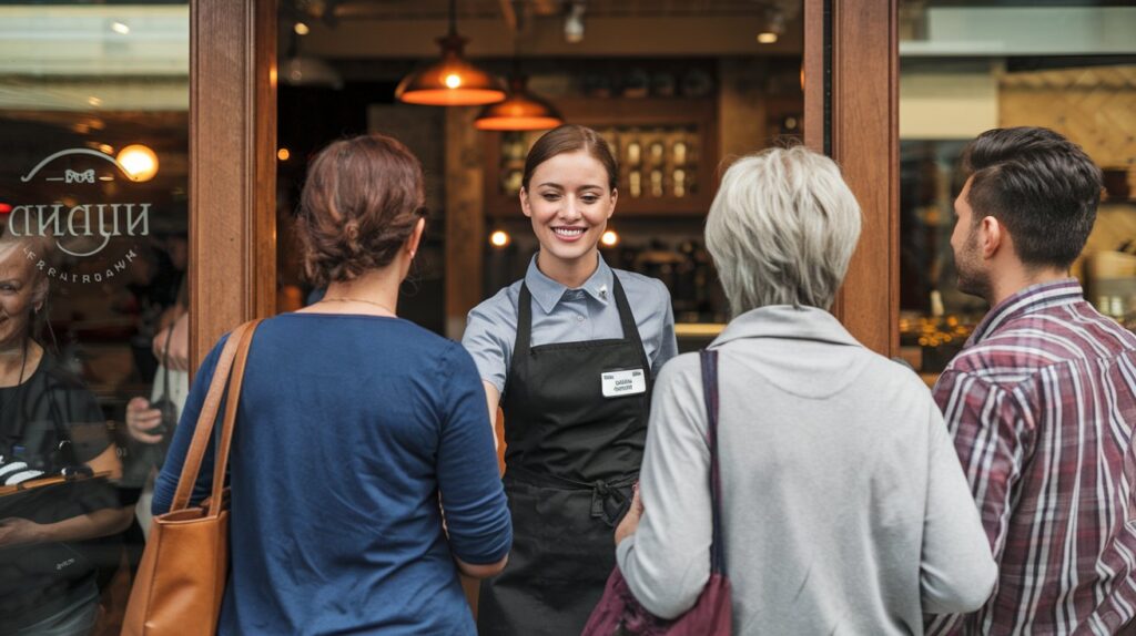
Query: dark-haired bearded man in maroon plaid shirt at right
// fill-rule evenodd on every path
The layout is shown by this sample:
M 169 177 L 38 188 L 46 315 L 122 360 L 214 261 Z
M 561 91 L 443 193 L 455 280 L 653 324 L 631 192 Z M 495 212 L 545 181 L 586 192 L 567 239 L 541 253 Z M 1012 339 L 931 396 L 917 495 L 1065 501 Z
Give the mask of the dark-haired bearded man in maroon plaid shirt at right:
M 988 130 L 963 159 L 951 245 L 991 311 L 935 399 L 1000 575 L 929 633 L 1116 634 L 1136 616 L 1136 334 L 1069 277 L 1101 172 L 1044 128 Z

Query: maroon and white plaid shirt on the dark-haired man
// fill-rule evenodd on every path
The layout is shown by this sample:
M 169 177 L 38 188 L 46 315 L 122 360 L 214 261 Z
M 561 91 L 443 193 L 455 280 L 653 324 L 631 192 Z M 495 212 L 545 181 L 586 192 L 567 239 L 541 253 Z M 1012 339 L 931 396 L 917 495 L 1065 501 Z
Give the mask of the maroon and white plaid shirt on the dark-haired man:
M 1076 280 L 991 309 L 935 385 L 999 563 L 929 633 L 1112 634 L 1136 616 L 1136 334 Z

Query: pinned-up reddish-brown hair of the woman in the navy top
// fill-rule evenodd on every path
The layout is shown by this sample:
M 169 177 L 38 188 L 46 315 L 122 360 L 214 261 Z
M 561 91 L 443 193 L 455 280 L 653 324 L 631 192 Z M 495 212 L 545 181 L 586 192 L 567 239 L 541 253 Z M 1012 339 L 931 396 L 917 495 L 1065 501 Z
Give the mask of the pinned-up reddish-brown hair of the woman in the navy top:
M 361 135 L 327 146 L 300 195 L 304 273 L 324 287 L 391 264 L 424 201 L 421 164 L 396 139 Z

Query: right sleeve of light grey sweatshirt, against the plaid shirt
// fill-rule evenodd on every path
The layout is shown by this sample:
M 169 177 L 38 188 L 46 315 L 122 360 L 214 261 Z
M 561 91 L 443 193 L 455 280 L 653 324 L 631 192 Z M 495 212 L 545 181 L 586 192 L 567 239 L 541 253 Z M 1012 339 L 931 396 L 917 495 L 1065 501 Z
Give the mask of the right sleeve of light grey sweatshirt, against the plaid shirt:
M 997 566 L 943 416 L 930 405 L 927 509 L 919 587 L 925 613 L 971 612 L 989 597 Z

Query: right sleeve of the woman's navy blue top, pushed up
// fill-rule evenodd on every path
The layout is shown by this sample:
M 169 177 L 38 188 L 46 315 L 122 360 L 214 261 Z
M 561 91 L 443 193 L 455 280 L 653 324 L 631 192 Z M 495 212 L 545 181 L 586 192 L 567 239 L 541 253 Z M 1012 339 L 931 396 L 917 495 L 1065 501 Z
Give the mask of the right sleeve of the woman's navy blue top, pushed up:
M 512 521 L 498 472 L 485 392 L 473 359 L 457 345 L 442 356 L 438 490 L 450 548 L 467 563 L 493 563 L 509 553 Z

